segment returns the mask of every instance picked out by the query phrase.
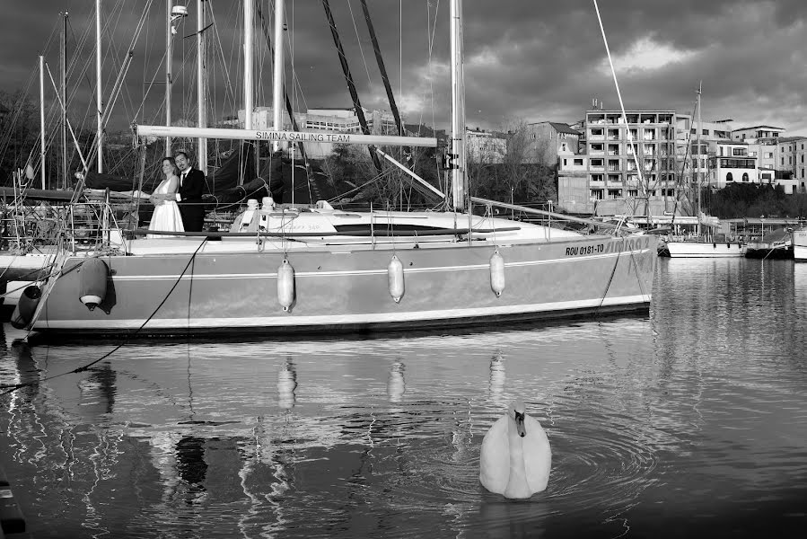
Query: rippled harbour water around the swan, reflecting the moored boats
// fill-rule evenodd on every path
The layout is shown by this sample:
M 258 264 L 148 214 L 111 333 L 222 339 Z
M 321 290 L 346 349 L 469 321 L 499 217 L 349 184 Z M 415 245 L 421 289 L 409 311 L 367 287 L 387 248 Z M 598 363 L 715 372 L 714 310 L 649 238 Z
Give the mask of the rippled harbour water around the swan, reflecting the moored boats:
M 807 264 L 660 261 L 649 316 L 375 339 L 139 341 L 0 397 L 35 537 L 801 536 Z M 114 343 L 30 346 L 0 380 Z M 514 398 L 548 490 L 478 482 Z

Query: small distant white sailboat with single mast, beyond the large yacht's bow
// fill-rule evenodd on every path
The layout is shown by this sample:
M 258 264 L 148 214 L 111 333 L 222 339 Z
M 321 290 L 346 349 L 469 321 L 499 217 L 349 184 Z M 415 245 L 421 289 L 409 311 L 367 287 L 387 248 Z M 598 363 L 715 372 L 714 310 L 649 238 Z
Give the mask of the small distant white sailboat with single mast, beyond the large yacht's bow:
M 702 85 L 697 88 L 697 168 L 695 169 L 695 185 L 697 189 L 697 229 L 696 234 L 692 238 L 683 240 L 671 239 L 666 244 L 668 256 L 671 258 L 739 258 L 745 256 L 746 245 L 738 242 L 719 240 L 715 237 L 713 229 L 715 229 L 719 222 L 715 217 L 706 216 L 701 206 L 701 155 L 702 150 L 700 146 L 700 95 L 703 89 Z

